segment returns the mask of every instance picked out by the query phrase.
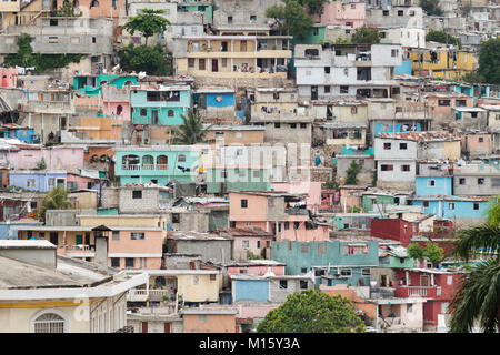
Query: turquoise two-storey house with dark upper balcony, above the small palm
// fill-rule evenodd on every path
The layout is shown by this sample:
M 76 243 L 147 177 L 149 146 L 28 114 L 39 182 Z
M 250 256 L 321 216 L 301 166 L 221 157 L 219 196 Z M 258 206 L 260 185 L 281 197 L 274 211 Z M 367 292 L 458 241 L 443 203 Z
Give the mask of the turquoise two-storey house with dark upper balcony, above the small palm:
M 180 125 L 191 108 L 189 85 L 143 85 L 130 91 L 133 124 Z

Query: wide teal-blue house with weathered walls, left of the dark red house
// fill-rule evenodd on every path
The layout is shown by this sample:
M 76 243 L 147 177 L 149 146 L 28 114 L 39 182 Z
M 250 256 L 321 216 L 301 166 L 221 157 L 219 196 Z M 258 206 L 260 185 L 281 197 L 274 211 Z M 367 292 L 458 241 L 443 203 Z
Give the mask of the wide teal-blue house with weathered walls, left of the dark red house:
M 370 268 L 379 265 L 378 242 L 272 242 L 271 258 L 286 263 L 289 275 L 313 272 L 314 284 L 370 285 Z

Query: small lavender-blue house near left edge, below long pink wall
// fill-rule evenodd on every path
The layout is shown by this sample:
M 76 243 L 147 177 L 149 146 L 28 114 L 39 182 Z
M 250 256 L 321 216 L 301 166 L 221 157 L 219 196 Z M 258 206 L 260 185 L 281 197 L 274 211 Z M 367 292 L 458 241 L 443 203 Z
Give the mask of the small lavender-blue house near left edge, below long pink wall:
M 66 190 L 64 170 L 13 170 L 9 172 L 9 185 L 29 191 L 47 192 L 57 186 Z

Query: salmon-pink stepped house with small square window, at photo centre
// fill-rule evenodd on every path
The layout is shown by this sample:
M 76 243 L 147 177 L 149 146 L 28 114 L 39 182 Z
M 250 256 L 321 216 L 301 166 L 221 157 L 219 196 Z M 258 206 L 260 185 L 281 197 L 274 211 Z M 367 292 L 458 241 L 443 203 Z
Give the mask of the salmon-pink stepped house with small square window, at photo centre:
M 257 226 L 276 235 L 277 241 L 328 241 L 329 225 L 309 216 L 306 194 L 282 192 L 230 192 L 231 227 Z

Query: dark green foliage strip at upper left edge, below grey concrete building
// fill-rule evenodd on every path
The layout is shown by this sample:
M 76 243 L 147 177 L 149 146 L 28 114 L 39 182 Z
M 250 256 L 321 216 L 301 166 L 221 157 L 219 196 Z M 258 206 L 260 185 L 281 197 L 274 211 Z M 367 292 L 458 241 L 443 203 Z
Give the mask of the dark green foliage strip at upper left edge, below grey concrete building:
M 34 67 L 38 72 L 64 68 L 69 63 L 79 62 L 82 54 L 40 54 L 33 53 L 30 44 L 30 36 L 21 33 L 17 39 L 18 52 L 6 57 L 3 65 L 9 67 Z

